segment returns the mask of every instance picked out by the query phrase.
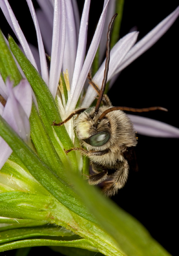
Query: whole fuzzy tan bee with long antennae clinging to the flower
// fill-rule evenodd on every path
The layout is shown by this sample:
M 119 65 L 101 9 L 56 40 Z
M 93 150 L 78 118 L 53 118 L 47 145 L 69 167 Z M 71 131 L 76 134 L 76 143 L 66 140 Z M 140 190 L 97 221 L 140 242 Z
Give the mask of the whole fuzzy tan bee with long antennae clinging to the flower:
M 53 125 L 60 126 L 77 115 L 74 127 L 82 147 L 71 148 L 65 152 L 67 154 L 72 150 L 79 150 L 90 159 L 93 174 L 88 178 L 89 184 L 97 185 L 110 178 L 104 182 L 103 191 L 106 196 L 115 195 L 125 185 L 129 173 L 127 153 L 137 145 L 136 131 L 132 121 L 122 110 L 142 112 L 162 109 L 160 107 L 146 109 L 114 107 L 104 94 L 110 61 L 111 30 L 116 16 L 117 14 L 113 16 L 108 26 L 106 65 L 101 90 L 88 74 L 89 83 L 99 94 L 96 106 L 76 109 L 61 123 L 53 122 Z M 100 106 L 101 102 L 103 106 Z

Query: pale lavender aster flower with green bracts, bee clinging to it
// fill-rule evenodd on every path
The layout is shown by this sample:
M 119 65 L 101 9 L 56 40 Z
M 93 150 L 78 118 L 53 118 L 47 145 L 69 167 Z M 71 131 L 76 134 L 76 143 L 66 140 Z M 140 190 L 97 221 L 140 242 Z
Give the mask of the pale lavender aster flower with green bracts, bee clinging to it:
M 8 229 L 13 229 L 14 235 L 11 235 L 8 240 L 4 238 L 5 236 L 3 237 L 2 251 L 24 246 L 58 245 L 59 247 L 69 246 L 101 252 L 104 255 L 123 255 L 123 252 L 129 255 L 137 255 L 136 250 L 138 253 L 143 253 L 143 255 L 147 255 L 146 253 L 152 255 L 153 249 L 156 250 L 156 254 L 168 255 L 138 222 L 123 213 L 123 211 L 120 211 L 110 200 L 96 192 L 94 187 L 89 187 L 77 175 L 79 172 L 87 174 L 87 161 L 79 153 L 72 152 L 66 156 L 64 152 L 64 148 L 73 147 L 73 143 L 75 146 L 79 145 L 73 131 L 73 120 L 70 120 L 65 127 L 62 126 L 60 129 L 50 125 L 53 120 L 58 122 L 61 119 L 65 119 L 78 104 L 87 74 L 100 43 L 108 2 L 104 1 L 103 11 L 96 27 L 94 38 L 85 56 L 90 1 L 85 1 L 80 27 L 78 15 L 74 11 L 77 10 L 75 1 L 54 1 L 54 6 L 50 1 L 39 1 L 44 11 L 41 14 L 47 14 L 48 11 L 49 26 L 52 25 L 53 20 L 51 62 L 48 74 L 45 50 L 37 17 L 31 1 L 27 0 L 37 32 L 41 64 L 40 76 L 34 56 L 8 1 L 0 1 L 0 7 L 27 57 L 26 59 L 12 37 L 9 37 L 9 47 L 15 56 L 15 63 L 11 52 L 8 51 L 8 46 L 5 45 L 3 36 L 1 37 L 2 50 L 3 52 L 8 52 L 8 54 L 4 59 L 1 58 L 3 60 L 1 61 L 3 69 L 1 69 L 0 94 L 7 100 L 7 104 L 5 108 L 1 106 L 0 111 L 8 122 L 10 117 L 7 115 L 6 118 L 4 113 L 6 109 L 9 113 L 8 102 L 14 100 L 13 102 L 19 106 L 14 109 L 15 115 L 20 116 L 15 118 L 18 120 L 18 129 L 15 128 L 14 124 L 9 123 L 9 126 L 3 118 L 0 119 L 2 127 L 0 135 L 11 147 L 9 149 L 6 144 L 4 146 L 8 151 L 8 153 L 5 153 L 7 159 L 13 150 L 13 154 L 7 162 L 4 164 L 4 158 L 2 162 L 4 166 L 1 169 L 3 182 L 0 195 L 0 215 L 11 218 L 3 218 L 1 220 L 2 223 L 12 224 L 7 229 L 4 229 L 5 234 L 9 236 L 11 233 Z M 138 35 L 136 31 L 127 34 L 117 42 L 111 50 L 111 67 L 108 79 L 113 78 L 126 65 L 129 65 L 151 47 L 168 30 L 178 14 L 179 9 L 176 9 L 149 33 L 143 41 L 141 40 L 136 45 L 134 45 Z M 69 52 L 69 49 L 71 52 Z M 118 54 L 118 58 L 115 58 L 116 54 Z M 13 63 L 12 67 L 7 67 L 4 64 L 8 63 L 8 59 Z M 16 67 L 19 69 L 16 69 Z M 101 68 L 93 78 L 99 86 L 102 84 L 103 70 L 104 64 L 101 65 Z M 61 75 L 62 71 L 65 71 L 63 76 Z M 14 88 L 15 90 L 19 86 L 23 87 L 26 94 L 28 90 L 28 102 L 22 90 L 17 93 L 18 98 L 16 98 L 15 90 L 12 89 L 12 82 L 7 79 L 7 76 L 14 80 L 15 85 L 19 83 Z M 34 101 L 30 116 L 32 143 L 27 139 L 30 135 L 27 117 L 29 117 L 31 109 L 31 91 L 26 80 L 20 82 L 22 77 L 27 78 L 34 90 Z M 3 80 L 4 82 L 6 81 L 7 87 L 5 87 Z M 59 80 L 60 86 L 58 86 Z M 81 104 L 85 107 L 90 106 L 95 96 L 91 87 L 88 87 L 83 101 L 80 98 Z M 23 104 L 22 98 L 24 100 Z M 11 106 L 14 104 L 13 102 Z M 20 120 L 22 120 L 21 123 Z M 134 119 L 134 125 L 135 120 L 137 118 Z M 22 129 L 26 131 L 26 136 L 19 134 Z M 25 142 L 20 139 L 16 132 Z M 178 136 L 178 130 L 176 130 L 176 134 Z M 1 140 L 1 143 L 5 142 Z M 8 182 L 5 182 L 5 179 Z M 19 225 L 15 224 L 16 221 Z M 55 223 L 64 228 L 47 226 L 47 223 Z M 121 228 L 123 223 L 125 223 L 125 227 L 119 230 L 118 227 Z M 23 229 L 19 231 L 19 227 L 23 227 Z M 28 239 L 11 242 L 16 240 L 19 234 L 20 239 L 38 235 L 47 236 L 49 239 Z M 60 238 L 59 240 L 50 239 L 52 236 Z M 62 238 L 63 236 L 64 238 Z M 68 239 L 66 238 L 67 236 Z M 126 241 L 128 242 L 126 243 Z M 144 246 L 151 243 L 153 247 Z M 133 244 L 137 249 L 133 247 Z M 144 248 L 142 248 L 143 246 Z M 60 251 L 60 249 L 58 250 Z

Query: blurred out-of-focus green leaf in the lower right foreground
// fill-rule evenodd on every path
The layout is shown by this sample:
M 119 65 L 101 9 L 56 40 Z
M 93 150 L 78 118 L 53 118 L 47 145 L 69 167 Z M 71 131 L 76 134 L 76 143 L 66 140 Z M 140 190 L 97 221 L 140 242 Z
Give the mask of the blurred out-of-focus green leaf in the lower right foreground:
M 117 207 L 100 191 L 90 186 L 75 173 L 69 173 L 69 179 L 79 193 L 81 200 L 96 217 L 101 226 L 117 242 L 119 247 L 129 256 L 169 256 L 158 242 L 135 218 Z

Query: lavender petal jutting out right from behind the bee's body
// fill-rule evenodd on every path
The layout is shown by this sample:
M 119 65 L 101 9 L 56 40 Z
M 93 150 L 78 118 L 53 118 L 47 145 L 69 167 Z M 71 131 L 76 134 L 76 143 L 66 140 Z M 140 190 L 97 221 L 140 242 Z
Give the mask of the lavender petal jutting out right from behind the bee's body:
M 179 138 L 179 129 L 172 125 L 147 117 L 131 114 L 128 114 L 128 116 L 134 124 L 134 129 L 139 134 L 152 137 Z

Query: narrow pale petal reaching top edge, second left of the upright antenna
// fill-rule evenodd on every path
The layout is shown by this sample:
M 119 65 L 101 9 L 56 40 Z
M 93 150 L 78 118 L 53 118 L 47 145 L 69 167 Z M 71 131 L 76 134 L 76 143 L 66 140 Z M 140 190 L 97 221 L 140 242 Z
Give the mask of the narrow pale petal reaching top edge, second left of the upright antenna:
M 73 79 L 72 79 L 72 84 L 71 84 L 71 96 L 75 91 L 76 84 L 77 84 L 77 81 L 79 80 L 79 76 L 80 76 L 81 69 L 82 69 L 83 63 L 84 63 L 84 58 L 85 58 L 89 6 L 90 6 L 90 0 L 85 0 L 83 13 L 82 13 L 82 17 L 81 17 L 81 23 L 80 23 L 79 42 L 78 42 L 78 47 L 77 47 L 75 69 L 73 72 Z M 71 99 L 69 99 L 68 102 L 70 102 L 70 101 L 71 101 Z

